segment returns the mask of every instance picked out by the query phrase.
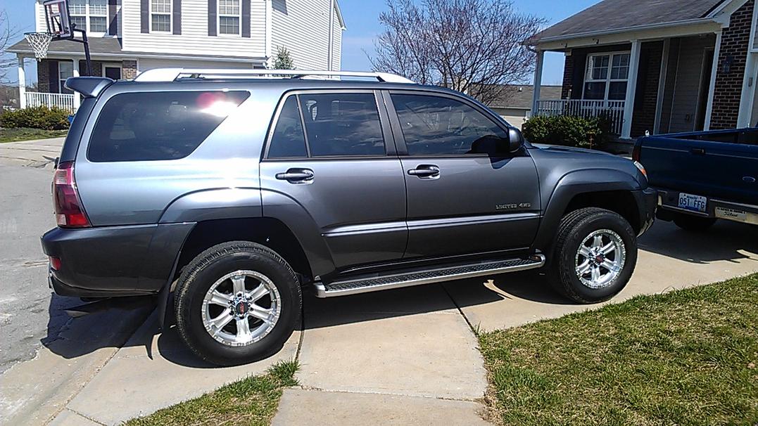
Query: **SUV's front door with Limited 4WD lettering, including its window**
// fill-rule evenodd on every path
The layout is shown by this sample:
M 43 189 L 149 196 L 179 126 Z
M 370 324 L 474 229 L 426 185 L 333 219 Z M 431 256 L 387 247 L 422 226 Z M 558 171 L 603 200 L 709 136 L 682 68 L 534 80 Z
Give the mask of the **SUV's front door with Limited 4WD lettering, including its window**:
M 504 124 L 454 95 L 391 92 L 388 104 L 402 133 L 406 257 L 529 247 L 539 224 L 537 169 L 525 150 L 501 152 Z

